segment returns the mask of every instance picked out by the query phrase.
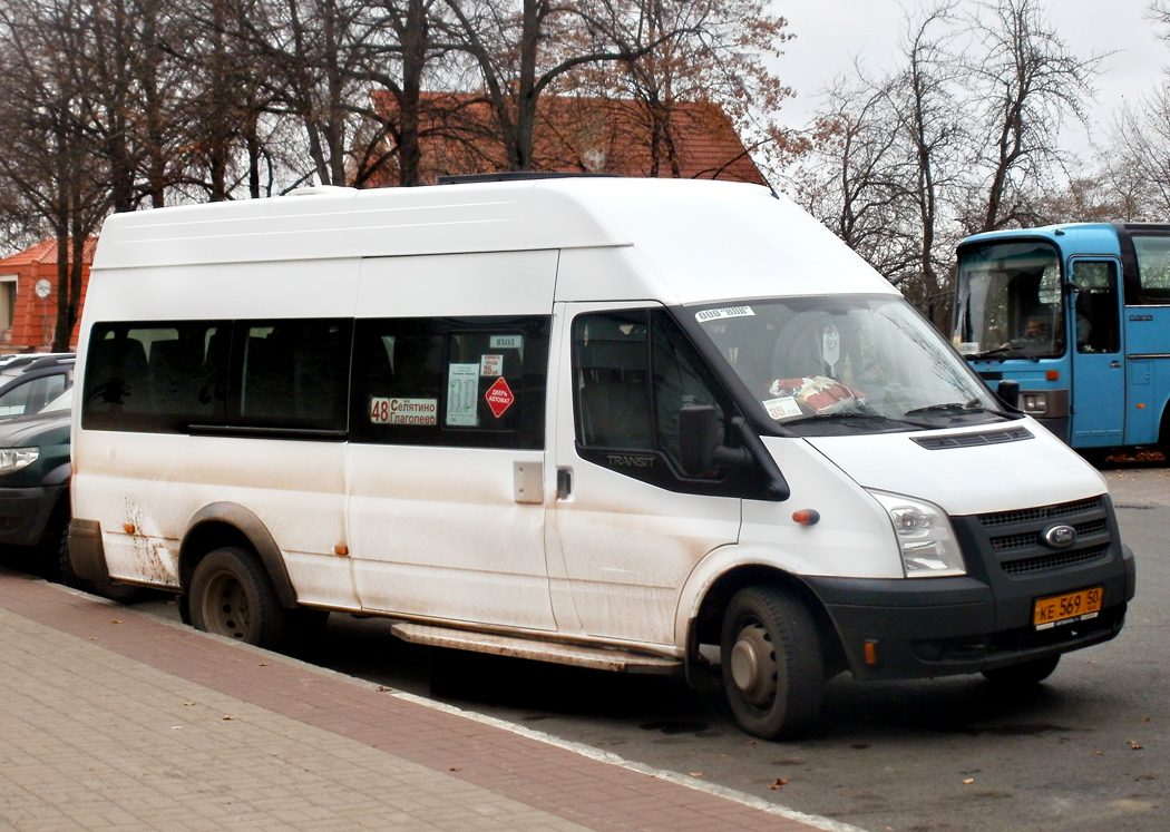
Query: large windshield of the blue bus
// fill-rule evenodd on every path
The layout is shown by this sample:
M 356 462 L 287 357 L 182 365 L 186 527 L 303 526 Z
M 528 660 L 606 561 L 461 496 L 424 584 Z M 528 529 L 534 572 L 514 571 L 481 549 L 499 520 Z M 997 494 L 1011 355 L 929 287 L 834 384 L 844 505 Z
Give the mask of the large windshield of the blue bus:
M 966 246 L 958 255 L 954 342 L 969 358 L 1065 352 L 1060 259 L 1042 241 Z

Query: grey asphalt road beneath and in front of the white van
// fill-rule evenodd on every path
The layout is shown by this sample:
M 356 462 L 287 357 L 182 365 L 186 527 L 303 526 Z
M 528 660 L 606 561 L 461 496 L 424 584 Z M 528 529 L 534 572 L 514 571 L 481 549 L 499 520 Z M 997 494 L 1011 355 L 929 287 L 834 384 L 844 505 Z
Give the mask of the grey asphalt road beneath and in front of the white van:
M 1114 641 L 1014 696 L 980 676 L 828 686 L 823 730 L 749 738 L 722 694 L 402 644 L 330 617 L 296 655 L 343 673 L 870 832 L 1170 828 L 1170 468 L 1103 472 L 1138 591 Z M 174 619 L 173 604 L 142 610 Z

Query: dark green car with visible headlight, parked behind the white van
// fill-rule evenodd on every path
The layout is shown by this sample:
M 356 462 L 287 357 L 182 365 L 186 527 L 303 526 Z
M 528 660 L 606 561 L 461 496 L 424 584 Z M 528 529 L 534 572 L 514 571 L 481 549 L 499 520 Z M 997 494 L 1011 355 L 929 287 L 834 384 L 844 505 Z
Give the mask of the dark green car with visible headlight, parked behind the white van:
M 37 572 L 60 577 L 69 523 L 69 422 L 73 390 L 40 413 L 0 421 L 0 545 L 39 550 Z

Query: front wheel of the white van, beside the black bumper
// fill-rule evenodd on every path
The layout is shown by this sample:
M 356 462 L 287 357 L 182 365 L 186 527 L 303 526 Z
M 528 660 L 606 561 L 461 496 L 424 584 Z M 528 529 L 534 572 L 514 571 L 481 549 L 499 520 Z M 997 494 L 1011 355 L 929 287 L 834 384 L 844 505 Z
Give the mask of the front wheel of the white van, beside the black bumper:
M 728 703 L 745 731 L 780 740 L 815 727 L 825 661 L 800 600 L 771 586 L 741 590 L 723 616 L 720 654 Z

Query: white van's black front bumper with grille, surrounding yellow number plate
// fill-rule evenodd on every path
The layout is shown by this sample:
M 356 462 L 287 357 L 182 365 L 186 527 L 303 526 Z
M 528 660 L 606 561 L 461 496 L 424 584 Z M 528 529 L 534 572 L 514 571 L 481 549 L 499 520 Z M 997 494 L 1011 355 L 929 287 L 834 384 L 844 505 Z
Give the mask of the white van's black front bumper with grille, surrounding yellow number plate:
M 1076 546 L 1053 552 L 1038 543 L 1054 518 L 1083 530 Z M 805 578 L 858 679 L 979 673 L 1089 647 L 1121 632 L 1136 572 L 1107 496 L 952 522 L 966 577 Z M 1032 626 L 1037 599 L 1093 586 L 1103 587 L 1095 618 Z

